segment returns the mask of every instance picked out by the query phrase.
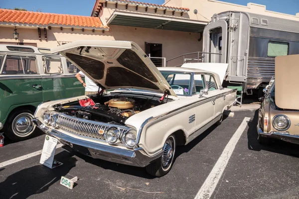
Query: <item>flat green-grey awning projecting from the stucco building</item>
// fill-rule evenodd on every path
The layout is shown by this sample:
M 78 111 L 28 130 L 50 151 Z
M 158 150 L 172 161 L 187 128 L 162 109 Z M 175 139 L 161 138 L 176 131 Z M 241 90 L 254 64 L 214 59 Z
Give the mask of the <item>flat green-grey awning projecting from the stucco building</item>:
M 184 18 L 115 11 L 107 21 L 107 25 L 109 24 L 184 32 L 203 32 L 203 28 L 207 23 Z

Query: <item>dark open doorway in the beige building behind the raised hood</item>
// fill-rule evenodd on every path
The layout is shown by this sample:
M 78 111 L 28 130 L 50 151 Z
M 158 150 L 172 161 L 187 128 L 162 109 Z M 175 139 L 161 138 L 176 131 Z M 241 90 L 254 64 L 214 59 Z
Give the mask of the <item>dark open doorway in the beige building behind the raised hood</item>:
M 151 61 L 156 67 L 163 66 L 160 58 L 162 57 L 162 44 L 145 42 L 145 51 L 149 57 L 152 57 Z

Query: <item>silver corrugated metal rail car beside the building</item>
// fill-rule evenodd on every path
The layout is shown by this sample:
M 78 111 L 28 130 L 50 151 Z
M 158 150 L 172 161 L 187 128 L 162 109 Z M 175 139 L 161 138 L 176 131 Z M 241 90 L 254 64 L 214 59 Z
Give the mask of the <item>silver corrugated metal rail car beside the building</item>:
M 242 85 L 247 94 L 263 94 L 275 57 L 292 54 L 299 54 L 299 21 L 226 11 L 214 14 L 203 31 L 202 61 L 228 63 L 224 86 Z

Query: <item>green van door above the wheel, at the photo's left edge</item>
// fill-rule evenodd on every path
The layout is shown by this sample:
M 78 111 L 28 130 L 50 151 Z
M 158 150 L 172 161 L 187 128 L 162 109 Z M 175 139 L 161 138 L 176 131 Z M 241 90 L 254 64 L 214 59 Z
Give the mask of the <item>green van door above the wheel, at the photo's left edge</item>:
M 0 69 L 0 121 L 10 110 L 42 102 L 41 77 L 35 56 L 6 55 Z

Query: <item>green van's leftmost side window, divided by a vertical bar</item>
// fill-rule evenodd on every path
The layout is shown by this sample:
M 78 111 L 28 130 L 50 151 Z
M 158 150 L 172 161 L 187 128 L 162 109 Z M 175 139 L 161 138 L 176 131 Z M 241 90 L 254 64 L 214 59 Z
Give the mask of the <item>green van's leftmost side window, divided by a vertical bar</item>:
M 38 74 L 36 58 L 33 56 L 7 55 L 2 75 L 36 75 Z

